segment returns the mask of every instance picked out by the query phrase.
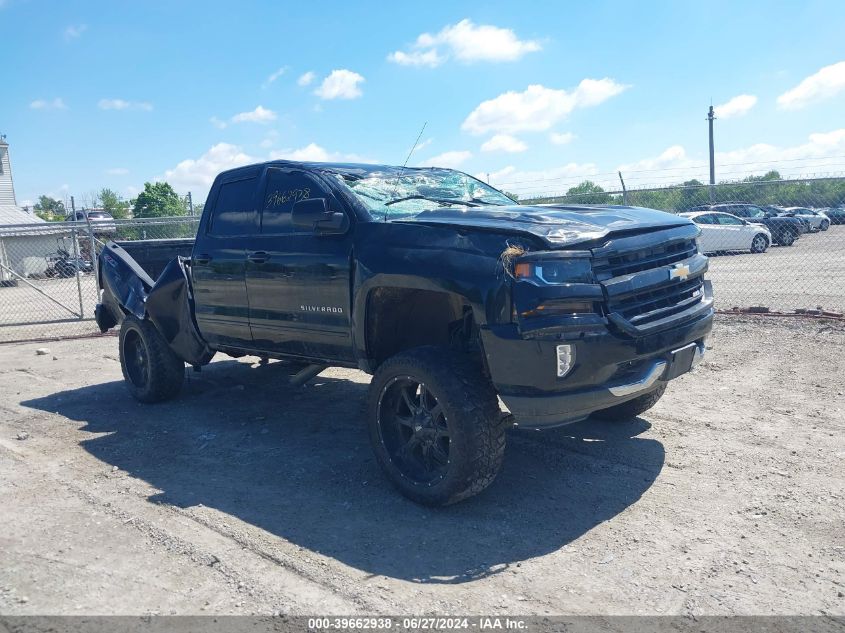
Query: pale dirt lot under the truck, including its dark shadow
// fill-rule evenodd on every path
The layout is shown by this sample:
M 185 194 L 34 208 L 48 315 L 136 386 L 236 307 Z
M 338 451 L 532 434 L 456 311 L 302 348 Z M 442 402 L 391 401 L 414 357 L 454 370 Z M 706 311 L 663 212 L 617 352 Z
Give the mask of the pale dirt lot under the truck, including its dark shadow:
M 845 614 L 845 327 L 719 320 L 642 418 L 514 431 L 442 510 L 367 376 L 220 359 L 143 406 L 116 340 L 0 346 L 0 612 Z

